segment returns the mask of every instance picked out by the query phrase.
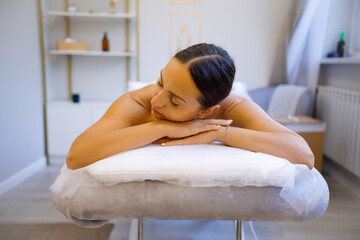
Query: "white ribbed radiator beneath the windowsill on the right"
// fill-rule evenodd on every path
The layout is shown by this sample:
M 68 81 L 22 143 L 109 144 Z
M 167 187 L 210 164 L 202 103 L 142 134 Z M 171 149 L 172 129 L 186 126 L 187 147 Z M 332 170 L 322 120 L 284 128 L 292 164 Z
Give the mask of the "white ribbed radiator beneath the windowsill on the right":
M 324 154 L 360 177 L 360 92 L 319 86 L 316 118 L 327 126 Z

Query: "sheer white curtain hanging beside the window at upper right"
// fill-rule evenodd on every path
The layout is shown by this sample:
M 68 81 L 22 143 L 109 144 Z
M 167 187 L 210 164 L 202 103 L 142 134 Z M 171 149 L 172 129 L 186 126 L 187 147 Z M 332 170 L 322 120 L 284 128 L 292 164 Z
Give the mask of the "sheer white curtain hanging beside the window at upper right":
M 307 86 L 314 99 L 330 0 L 301 0 L 298 6 L 286 49 L 287 83 Z

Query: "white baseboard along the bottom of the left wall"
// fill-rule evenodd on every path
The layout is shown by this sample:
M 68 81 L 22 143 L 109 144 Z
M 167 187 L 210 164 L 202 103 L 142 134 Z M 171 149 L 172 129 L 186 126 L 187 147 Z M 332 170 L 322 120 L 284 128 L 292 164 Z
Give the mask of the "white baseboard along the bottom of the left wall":
M 34 173 L 46 166 L 46 157 L 43 156 L 36 160 L 34 163 L 23 168 L 19 172 L 15 173 L 11 177 L 0 183 L 0 196 L 11 188 L 17 186 L 19 183 L 32 176 Z

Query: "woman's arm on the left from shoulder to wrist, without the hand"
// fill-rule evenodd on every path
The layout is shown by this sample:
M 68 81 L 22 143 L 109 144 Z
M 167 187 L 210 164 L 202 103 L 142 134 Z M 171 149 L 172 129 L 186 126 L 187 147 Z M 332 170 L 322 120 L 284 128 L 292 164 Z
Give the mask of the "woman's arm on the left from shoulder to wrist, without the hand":
M 78 169 L 115 153 L 145 146 L 161 138 L 153 123 L 132 126 L 132 120 L 143 116 L 143 109 L 129 95 L 118 98 L 104 116 L 72 143 L 66 158 L 70 169 Z

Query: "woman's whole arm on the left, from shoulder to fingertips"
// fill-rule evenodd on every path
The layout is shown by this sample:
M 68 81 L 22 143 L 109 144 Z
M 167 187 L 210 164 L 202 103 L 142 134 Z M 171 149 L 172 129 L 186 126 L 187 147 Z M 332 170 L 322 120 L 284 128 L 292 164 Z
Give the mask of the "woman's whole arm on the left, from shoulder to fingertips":
M 82 168 L 113 154 L 146 146 L 163 137 L 182 138 L 218 130 L 229 124 L 225 120 L 213 119 L 183 123 L 154 121 L 134 126 L 133 120 L 148 114 L 130 96 L 120 97 L 99 121 L 75 139 L 66 158 L 68 168 Z

